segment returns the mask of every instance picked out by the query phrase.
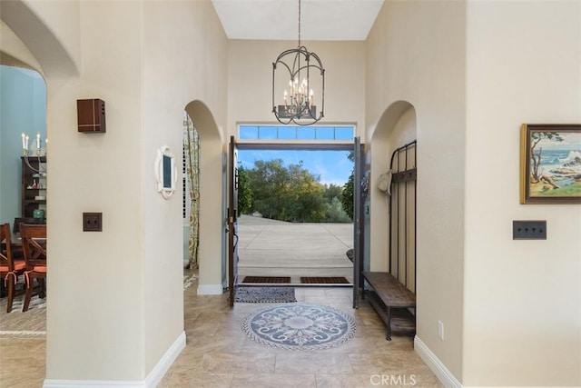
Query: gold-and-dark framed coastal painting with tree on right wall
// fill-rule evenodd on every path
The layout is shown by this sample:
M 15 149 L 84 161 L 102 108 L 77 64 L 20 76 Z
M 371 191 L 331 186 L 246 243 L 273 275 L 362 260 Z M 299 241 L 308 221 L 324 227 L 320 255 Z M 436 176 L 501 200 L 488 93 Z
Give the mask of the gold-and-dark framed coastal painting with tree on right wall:
M 521 204 L 581 204 L 581 124 L 522 124 Z

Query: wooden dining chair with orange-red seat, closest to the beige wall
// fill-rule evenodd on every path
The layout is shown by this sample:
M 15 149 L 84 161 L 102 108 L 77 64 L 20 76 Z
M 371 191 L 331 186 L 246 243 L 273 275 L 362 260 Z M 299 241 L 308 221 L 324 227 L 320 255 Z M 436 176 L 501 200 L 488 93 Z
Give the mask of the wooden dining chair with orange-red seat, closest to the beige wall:
M 46 225 L 20 224 L 20 237 L 25 254 L 25 285 L 26 296 L 22 311 L 28 310 L 33 296 L 34 279 L 39 285 L 38 296 L 44 298 L 46 279 Z

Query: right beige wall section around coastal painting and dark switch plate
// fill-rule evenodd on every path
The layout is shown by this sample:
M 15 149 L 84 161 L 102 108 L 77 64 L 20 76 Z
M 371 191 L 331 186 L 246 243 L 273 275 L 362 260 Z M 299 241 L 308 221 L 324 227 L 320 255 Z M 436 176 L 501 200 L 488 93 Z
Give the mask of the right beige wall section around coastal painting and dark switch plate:
M 581 3 L 470 2 L 464 378 L 581 385 L 581 206 L 519 204 L 519 126 L 581 123 Z M 513 241 L 513 220 L 547 220 Z

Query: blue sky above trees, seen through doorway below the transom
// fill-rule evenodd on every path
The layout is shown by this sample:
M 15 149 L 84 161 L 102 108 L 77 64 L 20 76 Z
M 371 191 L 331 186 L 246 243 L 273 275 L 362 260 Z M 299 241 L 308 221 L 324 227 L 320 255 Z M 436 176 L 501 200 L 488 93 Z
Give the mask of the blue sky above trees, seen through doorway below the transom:
M 238 150 L 238 161 L 246 169 L 254 168 L 254 161 L 282 159 L 285 166 L 299 164 L 310 174 L 320 175 L 321 184 L 347 183 L 353 163 L 347 158 L 349 151 L 306 151 L 306 150 Z

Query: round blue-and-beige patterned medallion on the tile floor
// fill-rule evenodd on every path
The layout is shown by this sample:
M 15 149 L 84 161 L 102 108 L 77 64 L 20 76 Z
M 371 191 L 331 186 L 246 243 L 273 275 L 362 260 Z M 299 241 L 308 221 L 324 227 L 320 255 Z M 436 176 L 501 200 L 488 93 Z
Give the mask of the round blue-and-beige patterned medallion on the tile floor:
M 329 306 L 287 303 L 261 308 L 242 320 L 252 340 L 288 350 L 323 350 L 346 343 L 355 333 L 353 318 Z

